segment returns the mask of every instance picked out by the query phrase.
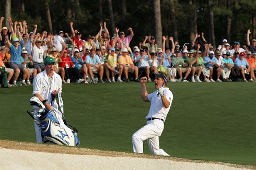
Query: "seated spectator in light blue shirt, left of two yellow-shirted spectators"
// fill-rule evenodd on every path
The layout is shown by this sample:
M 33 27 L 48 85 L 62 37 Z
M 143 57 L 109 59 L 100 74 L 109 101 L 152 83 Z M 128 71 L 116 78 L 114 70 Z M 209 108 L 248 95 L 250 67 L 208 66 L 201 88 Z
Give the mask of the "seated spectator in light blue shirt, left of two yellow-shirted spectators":
M 104 81 L 102 80 L 103 77 L 103 73 L 104 73 L 104 69 L 103 66 L 101 65 L 101 61 L 99 59 L 99 56 L 97 56 L 95 54 L 95 50 L 94 48 L 92 48 L 90 50 L 90 54 L 86 56 L 86 66 L 88 68 L 88 73 L 90 75 L 91 78 L 91 83 L 95 84 L 94 81 L 94 73 L 98 73 L 99 72 L 99 78 L 100 78 L 100 83 L 104 83 Z

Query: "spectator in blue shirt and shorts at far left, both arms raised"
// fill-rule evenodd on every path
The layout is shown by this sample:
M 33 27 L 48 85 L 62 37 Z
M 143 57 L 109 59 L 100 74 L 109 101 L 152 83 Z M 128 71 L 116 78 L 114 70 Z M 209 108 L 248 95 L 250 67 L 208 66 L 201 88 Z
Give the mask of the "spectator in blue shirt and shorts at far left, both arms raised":
M 9 39 L 6 40 L 7 46 L 10 48 L 10 67 L 14 69 L 14 86 L 17 86 L 17 79 L 19 77 L 20 72 L 22 71 L 22 81 L 21 84 L 27 86 L 25 82 L 28 74 L 28 70 L 24 67 L 20 60 L 20 54 L 22 47 L 26 45 L 28 41 L 28 37 L 25 38 L 23 44 L 19 44 L 19 39 L 14 39 L 13 44 L 10 43 Z

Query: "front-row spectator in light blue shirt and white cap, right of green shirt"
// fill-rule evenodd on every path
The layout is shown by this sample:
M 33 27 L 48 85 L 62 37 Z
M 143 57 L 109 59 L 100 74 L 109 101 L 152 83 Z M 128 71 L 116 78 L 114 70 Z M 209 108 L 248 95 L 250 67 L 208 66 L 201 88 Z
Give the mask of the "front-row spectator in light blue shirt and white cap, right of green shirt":
M 210 69 L 210 76 L 207 77 L 207 79 L 210 79 L 211 82 L 215 82 L 215 80 L 213 80 L 212 76 L 213 76 L 213 72 L 216 71 L 216 69 L 219 66 L 218 66 L 218 60 L 214 56 L 213 51 L 210 51 L 209 55 L 204 57 L 204 65 L 205 65 L 206 68 Z

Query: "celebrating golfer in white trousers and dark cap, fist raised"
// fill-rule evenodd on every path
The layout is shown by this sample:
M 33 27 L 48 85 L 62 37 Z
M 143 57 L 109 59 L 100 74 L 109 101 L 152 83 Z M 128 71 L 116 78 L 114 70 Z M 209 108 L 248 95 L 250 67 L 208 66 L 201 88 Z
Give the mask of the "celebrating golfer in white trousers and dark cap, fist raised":
M 132 136 L 133 151 L 143 153 L 143 141 L 147 139 L 151 154 L 169 156 L 164 150 L 159 148 L 159 136 L 164 130 L 164 122 L 170 110 L 173 95 L 169 88 L 161 87 L 165 81 L 165 72 L 152 74 L 155 79 L 155 92 L 148 94 L 146 90 L 147 77 L 141 78 L 141 96 L 145 102 L 151 102 L 149 113 L 146 116 L 147 125 L 136 131 Z

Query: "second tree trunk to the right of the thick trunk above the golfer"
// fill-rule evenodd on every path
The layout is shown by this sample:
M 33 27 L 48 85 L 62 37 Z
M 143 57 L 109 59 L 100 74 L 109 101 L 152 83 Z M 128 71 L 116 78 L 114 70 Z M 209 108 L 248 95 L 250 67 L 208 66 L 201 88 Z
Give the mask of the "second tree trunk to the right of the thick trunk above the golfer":
M 210 33 L 210 42 L 215 49 L 216 44 L 215 44 L 215 34 L 214 34 L 213 0 L 208 1 L 208 9 L 209 9 L 209 31 L 208 32 Z

